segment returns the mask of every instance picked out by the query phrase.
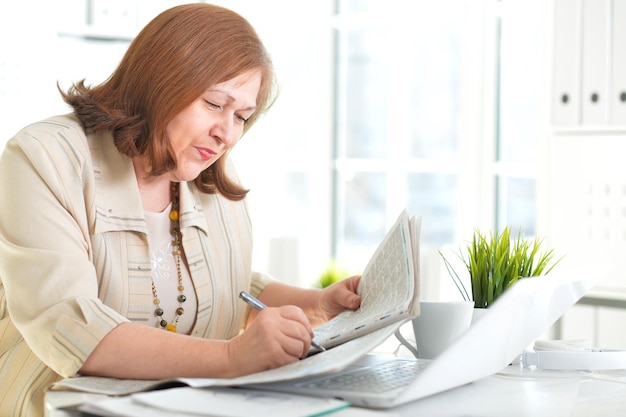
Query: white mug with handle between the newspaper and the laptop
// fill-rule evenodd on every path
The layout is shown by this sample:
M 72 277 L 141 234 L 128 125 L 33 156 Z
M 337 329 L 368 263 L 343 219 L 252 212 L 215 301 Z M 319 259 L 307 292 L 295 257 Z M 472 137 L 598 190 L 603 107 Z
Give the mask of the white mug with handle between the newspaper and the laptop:
M 395 335 L 416 357 L 434 359 L 469 329 L 473 311 L 473 301 L 421 301 L 412 320 L 417 349 L 399 331 Z

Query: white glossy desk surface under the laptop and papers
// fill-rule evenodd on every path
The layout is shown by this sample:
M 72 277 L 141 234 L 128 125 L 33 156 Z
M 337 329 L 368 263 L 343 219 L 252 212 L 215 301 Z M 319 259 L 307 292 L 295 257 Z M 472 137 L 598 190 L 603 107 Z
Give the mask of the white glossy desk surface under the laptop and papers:
M 626 371 L 615 374 L 523 369 L 503 372 L 429 398 L 390 410 L 351 407 L 336 417 L 588 417 L 623 415 L 626 410 Z M 604 376 L 613 380 L 603 380 Z M 66 417 L 58 408 L 93 399 L 94 395 L 53 392 L 46 398 L 47 416 Z

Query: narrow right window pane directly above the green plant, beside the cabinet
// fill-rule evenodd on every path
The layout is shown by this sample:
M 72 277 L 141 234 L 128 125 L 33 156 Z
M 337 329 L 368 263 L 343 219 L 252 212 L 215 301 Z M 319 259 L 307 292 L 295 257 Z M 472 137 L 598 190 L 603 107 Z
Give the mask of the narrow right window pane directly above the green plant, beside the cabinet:
M 525 235 L 535 234 L 539 145 L 548 113 L 543 103 L 541 45 L 549 39 L 539 1 L 505 0 L 495 9 L 497 128 L 495 152 L 496 219 Z M 547 67 L 546 67 L 547 68 Z

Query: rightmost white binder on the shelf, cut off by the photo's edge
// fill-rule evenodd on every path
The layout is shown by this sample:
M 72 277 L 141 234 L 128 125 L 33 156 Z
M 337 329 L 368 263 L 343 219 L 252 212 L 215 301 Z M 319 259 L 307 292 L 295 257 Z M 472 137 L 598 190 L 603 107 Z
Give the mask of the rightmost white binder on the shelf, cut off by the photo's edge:
M 626 125 L 626 0 L 613 0 L 611 124 Z

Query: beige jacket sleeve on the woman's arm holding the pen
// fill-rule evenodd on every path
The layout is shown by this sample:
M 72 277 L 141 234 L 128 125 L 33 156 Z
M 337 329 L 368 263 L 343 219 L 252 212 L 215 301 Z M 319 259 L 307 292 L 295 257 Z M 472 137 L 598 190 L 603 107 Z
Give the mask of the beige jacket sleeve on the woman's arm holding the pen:
M 10 140 L 0 157 L 4 302 L 31 350 L 62 376 L 127 321 L 98 299 L 88 153 L 82 129 L 44 123 Z

